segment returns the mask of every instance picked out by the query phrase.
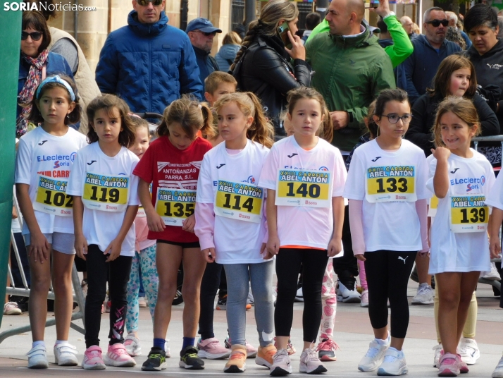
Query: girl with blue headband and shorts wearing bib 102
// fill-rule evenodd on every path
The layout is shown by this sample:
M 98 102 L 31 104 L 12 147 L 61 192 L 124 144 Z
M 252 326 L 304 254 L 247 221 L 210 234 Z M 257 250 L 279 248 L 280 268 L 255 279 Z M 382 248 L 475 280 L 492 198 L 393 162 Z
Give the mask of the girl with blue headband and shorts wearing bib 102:
M 58 75 L 43 80 L 35 91 L 29 120 L 40 126 L 20 139 L 15 161 L 15 187 L 31 272 L 33 344 L 27 353 L 28 367 L 48 367 L 44 330 L 51 276 L 56 295 L 54 355 L 58 365 L 72 366 L 77 365 L 77 350 L 68 343 L 75 249 L 72 199 L 66 188 L 75 154 L 87 145 L 84 135 L 68 127 L 80 121 L 73 80 Z

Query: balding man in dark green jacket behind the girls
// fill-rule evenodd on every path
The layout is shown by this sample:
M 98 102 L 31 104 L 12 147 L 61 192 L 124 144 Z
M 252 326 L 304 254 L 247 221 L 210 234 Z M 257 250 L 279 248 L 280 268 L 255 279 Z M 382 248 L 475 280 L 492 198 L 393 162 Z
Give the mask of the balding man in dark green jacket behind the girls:
M 315 71 L 311 85 L 327 102 L 332 144 L 342 154 L 349 154 L 365 133 L 368 105 L 381 90 L 396 87 L 390 56 L 362 23 L 364 12 L 361 0 L 333 0 L 325 17 L 330 32 L 306 42 L 306 61 Z

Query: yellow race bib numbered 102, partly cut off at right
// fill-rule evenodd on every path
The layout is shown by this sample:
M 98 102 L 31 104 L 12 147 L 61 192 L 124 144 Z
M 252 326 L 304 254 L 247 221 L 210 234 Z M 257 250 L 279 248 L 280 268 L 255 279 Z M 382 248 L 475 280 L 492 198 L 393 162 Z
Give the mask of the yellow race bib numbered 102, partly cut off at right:
M 38 176 L 33 209 L 59 217 L 71 217 L 73 197 L 66 194 L 67 185 L 68 181 Z

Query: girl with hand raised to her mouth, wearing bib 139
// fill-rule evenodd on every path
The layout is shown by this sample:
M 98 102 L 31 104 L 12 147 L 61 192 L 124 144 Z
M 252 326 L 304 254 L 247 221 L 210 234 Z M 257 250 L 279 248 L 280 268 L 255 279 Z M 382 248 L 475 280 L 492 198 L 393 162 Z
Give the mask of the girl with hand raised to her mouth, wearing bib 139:
M 470 148 L 478 133 L 480 123 L 470 100 L 449 97 L 440 103 L 427 183 L 438 198 L 428 273 L 435 274 L 439 294 L 440 377 L 468 372 L 457 346 L 480 272 L 490 270 L 485 197 L 495 175 L 488 159 Z

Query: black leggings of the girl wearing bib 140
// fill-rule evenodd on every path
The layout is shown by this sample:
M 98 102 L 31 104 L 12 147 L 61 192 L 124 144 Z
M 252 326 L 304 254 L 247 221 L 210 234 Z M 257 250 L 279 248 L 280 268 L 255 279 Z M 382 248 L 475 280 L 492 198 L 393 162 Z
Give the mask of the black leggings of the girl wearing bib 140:
M 276 336 L 290 336 L 301 263 L 303 264 L 302 329 L 304 329 L 304 341 L 316 342 L 321 323 L 321 286 L 328 263 L 327 250 L 280 248 L 276 256 L 278 298 L 274 310 L 274 327 Z

